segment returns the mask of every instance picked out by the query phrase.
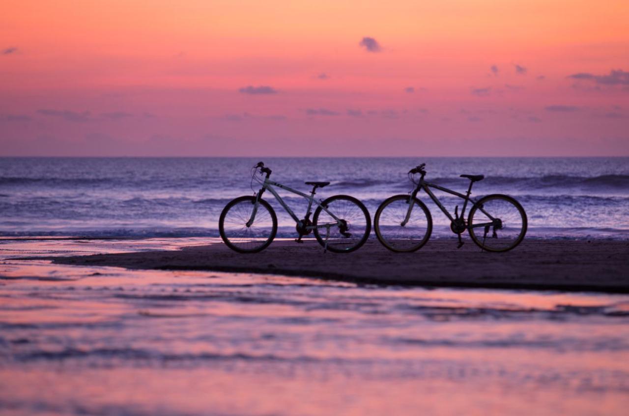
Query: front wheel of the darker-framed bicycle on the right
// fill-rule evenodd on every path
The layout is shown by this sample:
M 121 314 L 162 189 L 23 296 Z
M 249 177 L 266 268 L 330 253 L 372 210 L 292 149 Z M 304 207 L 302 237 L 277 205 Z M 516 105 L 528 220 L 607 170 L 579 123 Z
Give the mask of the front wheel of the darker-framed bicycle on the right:
M 416 251 L 426 244 L 432 233 L 432 216 L 419 199 L 415 199 L 408 222 L 402 225 L 408 213 L 410 198 L 409 195 L 394 195 L 382 202 L 376 211 L 376 237 L 391 251 Z

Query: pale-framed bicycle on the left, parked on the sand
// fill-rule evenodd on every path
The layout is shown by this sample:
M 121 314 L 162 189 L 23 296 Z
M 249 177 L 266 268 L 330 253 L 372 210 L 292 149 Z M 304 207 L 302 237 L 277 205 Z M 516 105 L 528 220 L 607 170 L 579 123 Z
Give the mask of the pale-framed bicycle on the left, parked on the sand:
M 314 233 L 324 251 L 350 253 L 367 241 L 371 232 L 371 217 L 365 205 L 358 199 L 349 195 L 335 195 L 323 201 L 315 200 L 316 189 L 326 187 L 330 182 L 305 182 L 306 185 L 313 185 L 313 190 L 308 195 L 270 180 L 271 172 L 262 162 L 255 165 L 252 168 L 252 184 L 255 180 L 262 185 L 262 189 L 253 196 L 231 200 L 221 212 L 218 230 L 229 248 L 238 253 L 257 253 L 267 248 L 275 238 L 277 216 L 269 202 L 262 199 L 265 190 L 269 190 L 296 222 L 299 236 L 296 242 L 303 243 L 303 236 Z M 308 209 L 303 219 L 294 214 L 274 187 L 308 200 Z M 313 204 L 317 207 L 311 221 Z M 322 229 L 325 229 L 323 235 Z

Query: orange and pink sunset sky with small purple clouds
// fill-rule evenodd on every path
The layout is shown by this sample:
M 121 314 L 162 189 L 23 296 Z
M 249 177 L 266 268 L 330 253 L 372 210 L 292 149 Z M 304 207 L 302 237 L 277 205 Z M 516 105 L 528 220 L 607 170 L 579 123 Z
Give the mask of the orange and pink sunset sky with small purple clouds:
M 629 1 L 0 6 L 0 156 L 628 156 Z

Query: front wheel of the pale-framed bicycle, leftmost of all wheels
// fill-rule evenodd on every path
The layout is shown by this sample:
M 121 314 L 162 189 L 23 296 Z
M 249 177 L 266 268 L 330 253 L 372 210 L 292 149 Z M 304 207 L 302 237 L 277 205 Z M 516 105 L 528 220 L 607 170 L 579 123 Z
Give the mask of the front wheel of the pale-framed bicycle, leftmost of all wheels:
M 277 233 L 277 217 L 273 208 L 260 199 L 253 223 L 251 218 L 255 197 L 239 197 L 225 205 L 218 220 L 218 231 L 225 244 L 238 253 L 257 253 L 269 244 Z

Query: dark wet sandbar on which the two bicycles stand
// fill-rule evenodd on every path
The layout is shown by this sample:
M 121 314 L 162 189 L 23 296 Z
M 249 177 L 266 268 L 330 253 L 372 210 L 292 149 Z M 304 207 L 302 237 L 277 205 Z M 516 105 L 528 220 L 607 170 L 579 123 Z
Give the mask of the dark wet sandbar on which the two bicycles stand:
M 416 253 L 391 253 L 370 240 L 358 251 L 323 253 L 316 241 L 274 241 L 243 255 L 224 244 L 54 258 L 55 263 L 129 269 L 213 270 L 310 276 L 423 287 L 510 288 L 629 293 L 629 242 L 528 240 L 508 253 L 481 252 L 470 241 L 433 240 Z

